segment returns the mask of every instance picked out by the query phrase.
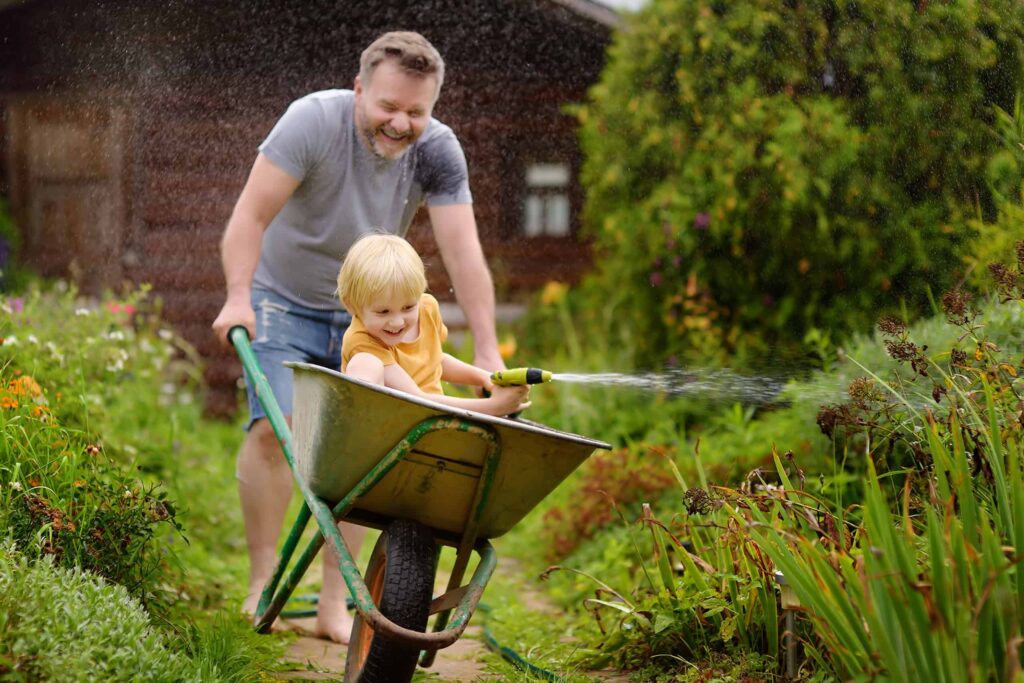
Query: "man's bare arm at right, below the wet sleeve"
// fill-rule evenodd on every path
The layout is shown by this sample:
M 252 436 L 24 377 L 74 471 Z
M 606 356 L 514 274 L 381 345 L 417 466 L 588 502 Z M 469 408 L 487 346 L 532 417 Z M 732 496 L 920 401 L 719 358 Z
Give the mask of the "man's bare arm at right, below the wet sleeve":
M 480 248 L 473 205 L 435 206 L 427 211 L 455 296 L 473 333 L 473 365 L 489 372 L 504 370 L 495 333 L 495 285 Z

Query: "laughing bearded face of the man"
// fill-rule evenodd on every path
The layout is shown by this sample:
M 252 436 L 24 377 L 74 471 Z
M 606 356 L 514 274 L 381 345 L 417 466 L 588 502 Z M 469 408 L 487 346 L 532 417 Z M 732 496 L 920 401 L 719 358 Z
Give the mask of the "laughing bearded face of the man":
M 436 88 L 436 78 L 411 76 L 387 59 L 369 83 L 355 77 L 355 125 L 371 152 L 400 157 L 427 127 Z

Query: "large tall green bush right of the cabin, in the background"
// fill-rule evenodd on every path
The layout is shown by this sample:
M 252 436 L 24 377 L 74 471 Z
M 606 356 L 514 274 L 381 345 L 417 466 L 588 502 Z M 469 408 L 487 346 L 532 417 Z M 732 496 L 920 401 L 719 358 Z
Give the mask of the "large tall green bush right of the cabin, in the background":
M 927 310 L 995 213 L 1022 58 L 1012 0 L 649 3 L 579 110 L 591 307 L 641 365 Z

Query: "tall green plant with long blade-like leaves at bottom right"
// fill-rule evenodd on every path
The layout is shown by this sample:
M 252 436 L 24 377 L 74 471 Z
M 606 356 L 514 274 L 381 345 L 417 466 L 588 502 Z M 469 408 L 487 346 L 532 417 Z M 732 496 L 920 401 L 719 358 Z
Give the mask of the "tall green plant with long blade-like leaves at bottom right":
M 1011 305 L 1024 302 L 1024 244 L 1019 255 L 1013 268 L 991 268 Z M 855 541 L 821 543 L 779 501 L 734 509 L 800 597 L 821 660 L 843 678 L 1010 680 L 1024 665 L 1024 364 L 987 339 L 964 292 L 942 304 L 968 350 L 929 355 L 901 322 L 884 319 L 887 348 L 909 375 L 867 371 L 881 393 L 866 402 L 860 381 L 852 404 L 819 416 L 845 439 L 874 435 L 858 442 L 867 481 Z M 879 452 L 897 440 L 915 458 L 884 483 Z

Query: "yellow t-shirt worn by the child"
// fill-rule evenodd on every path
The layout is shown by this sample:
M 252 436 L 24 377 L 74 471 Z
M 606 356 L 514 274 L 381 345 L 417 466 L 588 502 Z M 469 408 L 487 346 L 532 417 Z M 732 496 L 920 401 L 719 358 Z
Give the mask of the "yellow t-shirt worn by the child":
M 444 393 L 441 390 L 441 344 L 445 339 L 447 328 L 441 321 L 440 306 L 429 294 L 420 299 L 420 336 L 411 342 L 388 346 L 367 332 L 358 315 L 353 315 L 341 342 L 341 372 L 345 372 L 356 353 L 370 353 L 385 366 L 398 364 L 426 393 Z

